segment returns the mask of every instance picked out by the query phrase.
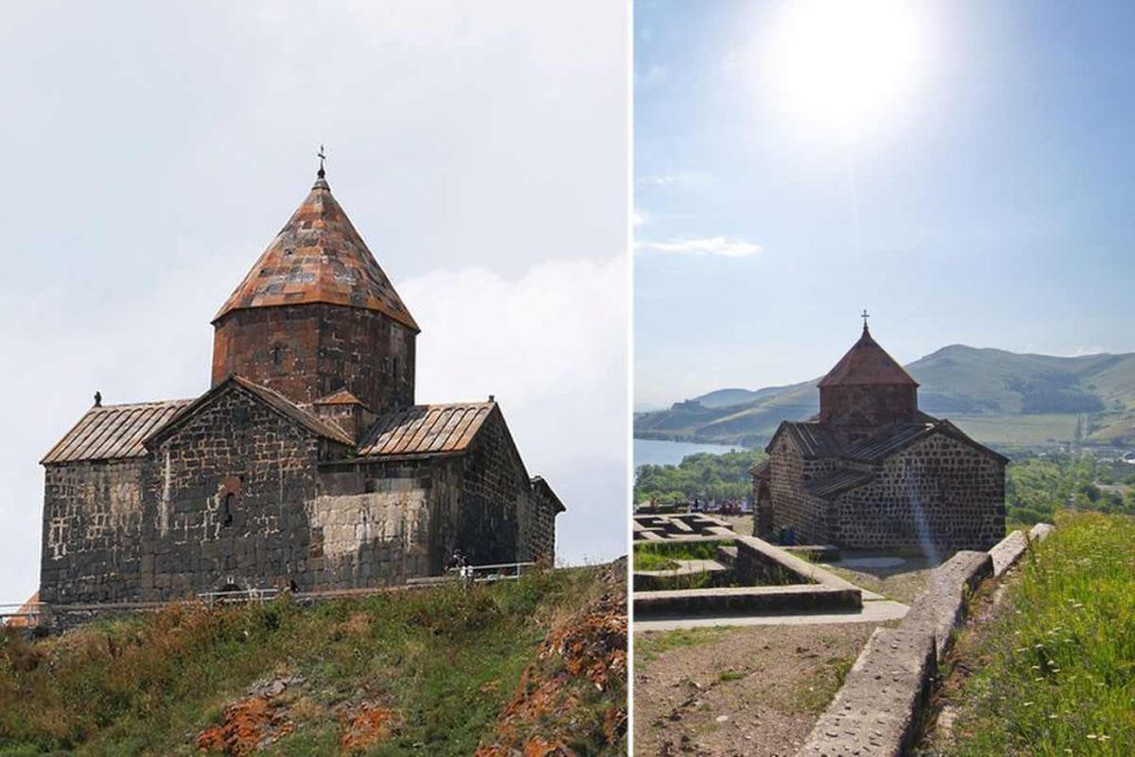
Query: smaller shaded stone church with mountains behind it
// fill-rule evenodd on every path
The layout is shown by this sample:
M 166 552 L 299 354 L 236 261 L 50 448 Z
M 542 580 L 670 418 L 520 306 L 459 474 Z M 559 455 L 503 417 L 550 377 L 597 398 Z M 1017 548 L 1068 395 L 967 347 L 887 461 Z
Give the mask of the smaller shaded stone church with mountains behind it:
M 765 452 L 750 471 L 757 536 L 939 555 L 1004 536 L 1008 460 L 918 410 L 918 384 L 866 320 L 819 381 L 819 414 L 783 421 Z

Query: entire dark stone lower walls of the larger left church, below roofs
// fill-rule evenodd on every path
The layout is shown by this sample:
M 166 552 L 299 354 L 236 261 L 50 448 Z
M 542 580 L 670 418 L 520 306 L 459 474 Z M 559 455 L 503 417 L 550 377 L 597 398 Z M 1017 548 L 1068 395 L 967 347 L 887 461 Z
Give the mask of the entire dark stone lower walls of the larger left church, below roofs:
M 464 455 L 350 460 L 234 384 L 148 457 L 47 466 L 41 597 L 402 583 L 443 573 L 455 548 L 479 564 L 550 557 L 555 514 L 499 411 Z

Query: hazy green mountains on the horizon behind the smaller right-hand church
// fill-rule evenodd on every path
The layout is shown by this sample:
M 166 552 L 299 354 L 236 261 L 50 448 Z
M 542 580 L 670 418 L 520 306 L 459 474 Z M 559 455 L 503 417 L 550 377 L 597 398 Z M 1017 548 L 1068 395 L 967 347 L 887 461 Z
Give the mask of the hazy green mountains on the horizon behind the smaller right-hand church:
M 1003 447 L 1135 445 L 1135 353 L 1083 358 L 951 345 L 906 365 L 922 410 Z M 819 410 L 818 378 L 717 389 L 634 417 L 634 436 L 759 446 L 782 420 Z

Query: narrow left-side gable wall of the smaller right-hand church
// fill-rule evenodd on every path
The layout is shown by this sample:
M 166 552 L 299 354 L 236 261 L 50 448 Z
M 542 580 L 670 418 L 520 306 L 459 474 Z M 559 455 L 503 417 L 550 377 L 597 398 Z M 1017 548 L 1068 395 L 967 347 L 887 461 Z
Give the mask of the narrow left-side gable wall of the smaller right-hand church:
M 804 489 L 826 463 L 805 460 L 789 434 L 781 434 L 767 452 L 773 528 L 791 528 L 799 544 L 826 544 L 826 507 Z

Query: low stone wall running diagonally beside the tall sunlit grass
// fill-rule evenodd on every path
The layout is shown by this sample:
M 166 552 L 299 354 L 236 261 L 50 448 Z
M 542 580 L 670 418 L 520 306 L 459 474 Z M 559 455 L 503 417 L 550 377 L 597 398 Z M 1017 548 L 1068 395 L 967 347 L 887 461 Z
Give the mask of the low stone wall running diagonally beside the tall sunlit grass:
M 985 579 L 1003 575 L 1031 540 L 1051 532 L 1052 525 L 1041 523 L 1028 538 L 1014 532 L 989 552 L 959 552 L 934 569 L 930 586 L 899 628 L 875 631 L 798 754 L 906 754 L 917 735 L 938 664 L 966 616 L 969 595 Z

